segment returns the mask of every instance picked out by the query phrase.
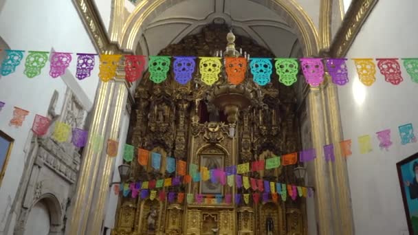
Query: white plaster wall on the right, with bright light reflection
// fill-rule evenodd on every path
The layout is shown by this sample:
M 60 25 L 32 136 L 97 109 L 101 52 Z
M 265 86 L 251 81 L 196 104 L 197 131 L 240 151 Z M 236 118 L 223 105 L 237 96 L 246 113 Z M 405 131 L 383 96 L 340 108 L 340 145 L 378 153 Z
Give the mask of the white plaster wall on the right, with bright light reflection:
M 416 58 L 418 1 L 379 1 L 351 46 L 348 58 Z M 397 17 L 393 17 L 397 16 Z M 410 80 L 403 65 L 404 82 L 394 86 L 377 71 L 377 81 L 364 87 L 352 61 L 350 82 L 338 89 L 345 139 L 353 139 L 353 155 L 347 160 L 356 235 L 408 234 L 396 163 L 418 152 L 418 143 L 400 144 L 398 126 L 412 123 L 418 130 L 418 84 Z M 391 128 L 393 146 L 380 150 L 377 131 Z M 371 135 L 373 152 L 360 154 L 357 137 Z M 347 186 L 340 186 L 347 187 Z

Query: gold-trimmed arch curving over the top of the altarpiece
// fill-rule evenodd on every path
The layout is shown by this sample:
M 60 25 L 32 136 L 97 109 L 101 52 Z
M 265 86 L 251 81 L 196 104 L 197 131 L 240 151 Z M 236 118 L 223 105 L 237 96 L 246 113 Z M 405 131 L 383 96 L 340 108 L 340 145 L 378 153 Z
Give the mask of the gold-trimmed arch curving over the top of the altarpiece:
M 122 49 L 131 50 L 133 52 L 137 51 L 136 47 L 140 41 L 140 35 L 144 31 L 144 25 L 153 21 L 159 13 L 164 12 L 164 10 L 183 1 L 186 0 L 155 0 L 144 1 L 144 3 L 138 5 L 122 27 L 122 32 L 119 37 L 119 43 Z M 298 3 L 288 0 L 248 1 L 264 5 L 265 8 L 273 10 L 278 15 L 284 16 L 287 24 L 294 28 L 296 36 L 298 36 L 298 39 L 302 44 L 303 54 L 305 56 L 311 56 L 318 53 L 318 32 L 316 31 L 314 23 L 309 19 L 307 13 L 302 10 Z M 123 5 L 120 6 L 123 7 Z

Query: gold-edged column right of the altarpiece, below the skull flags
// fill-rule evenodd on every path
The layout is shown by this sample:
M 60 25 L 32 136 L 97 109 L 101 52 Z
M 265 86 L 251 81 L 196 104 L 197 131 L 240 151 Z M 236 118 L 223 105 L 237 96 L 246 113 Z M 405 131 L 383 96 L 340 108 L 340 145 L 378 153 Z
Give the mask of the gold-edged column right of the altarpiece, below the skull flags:
M 316 159 L 307 163 L 315 186 L 316 223 L 319 234 L 353 234 L 347 162 L 341 155 L 341 124 L 335 85 L 325 82 L 307 96 L 311 139 Z M 335 161 L 325 161 L 324 146 L 334 145 Z M 309 183 L 310 184 L 310 183 Z

